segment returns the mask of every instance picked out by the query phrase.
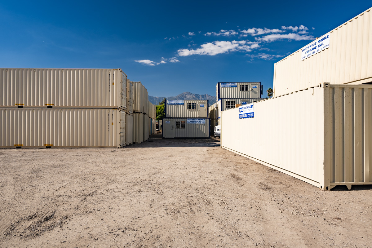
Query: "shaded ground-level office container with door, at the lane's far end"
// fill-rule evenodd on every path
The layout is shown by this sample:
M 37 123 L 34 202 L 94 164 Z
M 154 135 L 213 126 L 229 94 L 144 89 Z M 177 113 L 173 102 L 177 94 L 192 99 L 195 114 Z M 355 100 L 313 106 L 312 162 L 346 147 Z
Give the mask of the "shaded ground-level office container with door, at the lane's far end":
M 163 138 L 209 138 L 208 118 L 164 118 Z

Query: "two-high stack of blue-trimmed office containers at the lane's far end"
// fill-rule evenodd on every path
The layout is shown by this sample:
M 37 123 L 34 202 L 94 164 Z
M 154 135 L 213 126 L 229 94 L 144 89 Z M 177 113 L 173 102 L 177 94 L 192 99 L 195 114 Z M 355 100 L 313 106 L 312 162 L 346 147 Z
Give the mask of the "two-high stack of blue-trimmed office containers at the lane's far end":
M 163 138 L 209 138 L 208 100 L 166 100 Z

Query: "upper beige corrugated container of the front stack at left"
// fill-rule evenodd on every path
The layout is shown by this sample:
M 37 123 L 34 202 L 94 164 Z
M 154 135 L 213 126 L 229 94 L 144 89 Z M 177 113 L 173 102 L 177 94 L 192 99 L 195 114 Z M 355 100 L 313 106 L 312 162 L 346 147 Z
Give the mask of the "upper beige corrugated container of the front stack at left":
M 0 107 L 126 108 L 121 69 L 1 68 Z

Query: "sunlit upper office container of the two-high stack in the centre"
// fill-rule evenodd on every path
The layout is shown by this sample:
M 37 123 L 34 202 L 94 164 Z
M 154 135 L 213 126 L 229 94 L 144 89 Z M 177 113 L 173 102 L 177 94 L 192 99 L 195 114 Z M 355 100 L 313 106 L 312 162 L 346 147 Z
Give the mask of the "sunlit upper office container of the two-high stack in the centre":
M 208 100 L 180 100 L 180 104 L 172 103 L 174 103 L 174 100 L 167 100 L 166 102 L 166 117 L 208 118 Z

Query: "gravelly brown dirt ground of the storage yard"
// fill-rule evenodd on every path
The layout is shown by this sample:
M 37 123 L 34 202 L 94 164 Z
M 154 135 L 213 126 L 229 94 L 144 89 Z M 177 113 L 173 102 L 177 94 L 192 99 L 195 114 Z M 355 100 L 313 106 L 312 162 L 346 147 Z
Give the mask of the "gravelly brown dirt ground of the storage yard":
M 0 149 L 0 247 L 372 247 L 372 186 L 320 189 L 219 147 Z

